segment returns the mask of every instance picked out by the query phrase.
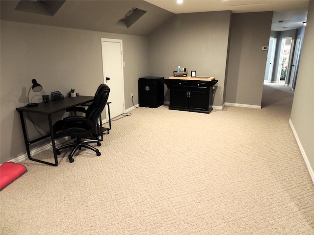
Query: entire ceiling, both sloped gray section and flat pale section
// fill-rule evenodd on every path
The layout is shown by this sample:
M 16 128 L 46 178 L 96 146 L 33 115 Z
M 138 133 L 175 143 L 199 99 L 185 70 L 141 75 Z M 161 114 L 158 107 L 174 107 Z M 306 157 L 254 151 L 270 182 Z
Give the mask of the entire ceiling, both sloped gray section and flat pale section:
M 175 14 L 274 11 L 272 30 L 302 26 L 309 0 L 1 0 L 1 20 L 145 36 Z M 283 21 L 278 23 L 278 21 Z

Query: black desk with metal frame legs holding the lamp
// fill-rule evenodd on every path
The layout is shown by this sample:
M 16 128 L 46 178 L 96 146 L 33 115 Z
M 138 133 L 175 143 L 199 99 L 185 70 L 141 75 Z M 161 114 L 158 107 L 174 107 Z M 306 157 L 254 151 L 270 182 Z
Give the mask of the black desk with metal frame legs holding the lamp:
M 72 108 L 72 107 L 75 107 L 75 106 L 78 106 L 78 105 L 83 105 L 83 104 L 92 102 L 93 100 L 94 100 L 94 96 L 78 95 L 77 97 L 65 97 L 64 99 L 50 101 L 49 103 L 39 103 L 38 106 L 35 106 L 35 107 L 24 106 L 24 107 L 17 108 L 16 110 L 19 111 L 19 113 L 20 113 L 20 118 L 21 118 L 21 123 L 22 123 L 22 128 L 23 128 L 24 141 L 25 141 L 28 159 L 35 161 L 35 162 L 39 162 L 39 163 L 57 166 L 58 165 L 58 159 L 57 159 L 57 153 L 55 150 L 55 142 L 54 142 L 54 135 L 53 135 L 53 128 L 52 128 L 52 118 L 51 118 L 52 114 L 57 113 L 59 111 L 69 109 L 69 108 Z M 48 134 L 44 137 L 40 137 L 38 139 L 32 140 L 32 141 L 28 141 L 23 112 L 47 115 L 48 121 L 49 121 L 49 127 L 50 127 L 50 134 Z M 32 143 L 35 143 L 37 141 L 41 141 L 47 137 L 51 137 L 51 140 L 52 140 L 54 164 L 49 163 L 49 162 L 45 162 L 42 160 L 34 159 L 30 156 L 29 145 Z

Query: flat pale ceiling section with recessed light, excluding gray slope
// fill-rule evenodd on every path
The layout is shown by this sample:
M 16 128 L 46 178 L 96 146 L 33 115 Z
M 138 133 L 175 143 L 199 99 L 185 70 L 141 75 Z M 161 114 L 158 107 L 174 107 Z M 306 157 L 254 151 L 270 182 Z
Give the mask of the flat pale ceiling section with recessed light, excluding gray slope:
M 227 10 L 233 13 L 274 11 L 273 31 L 301 27 L 306 21 L 309 6 L 309 0 L 183 0 L 182 4 L 176 0 L 146 1 L 175 14 Z

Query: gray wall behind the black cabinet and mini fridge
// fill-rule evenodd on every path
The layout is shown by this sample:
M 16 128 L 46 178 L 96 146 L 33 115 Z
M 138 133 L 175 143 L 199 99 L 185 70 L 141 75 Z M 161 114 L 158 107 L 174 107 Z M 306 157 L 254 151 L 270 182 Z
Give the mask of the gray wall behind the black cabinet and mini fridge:
M 149 35 L 149 75 L 173 76 L 178 66 L 214 76 L 213 105 L 224 103 L 230 11 L 177 14 Z M 169 101 L 166 94 L 165 101 Z

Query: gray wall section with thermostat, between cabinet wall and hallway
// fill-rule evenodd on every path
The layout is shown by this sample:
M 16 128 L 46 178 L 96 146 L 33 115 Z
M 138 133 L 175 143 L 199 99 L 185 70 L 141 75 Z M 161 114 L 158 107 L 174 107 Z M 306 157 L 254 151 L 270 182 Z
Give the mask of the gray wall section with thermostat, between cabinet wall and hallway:
M 226 102 L 261 106 L 272 15 L 233 14 Z

